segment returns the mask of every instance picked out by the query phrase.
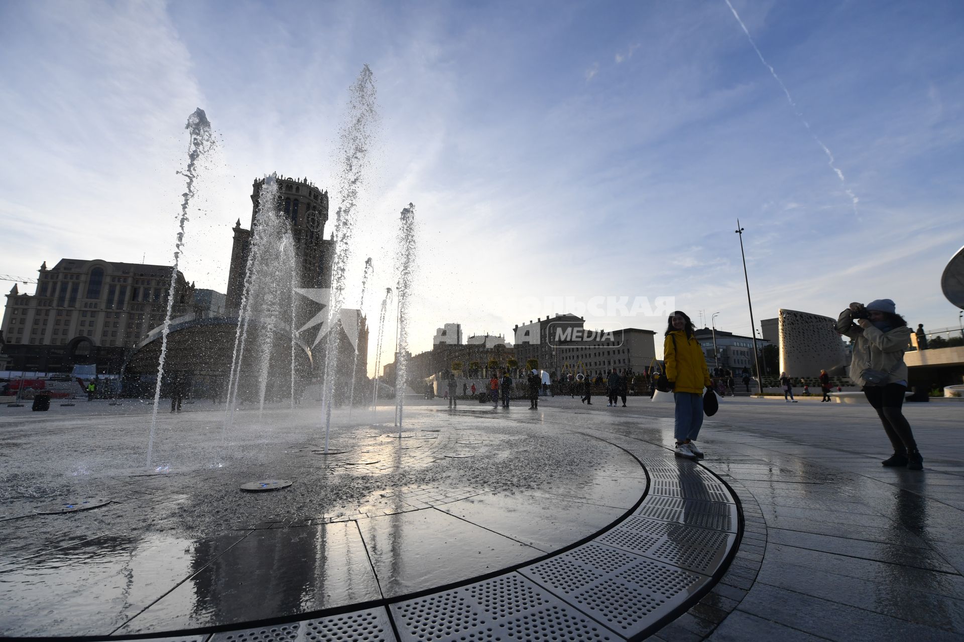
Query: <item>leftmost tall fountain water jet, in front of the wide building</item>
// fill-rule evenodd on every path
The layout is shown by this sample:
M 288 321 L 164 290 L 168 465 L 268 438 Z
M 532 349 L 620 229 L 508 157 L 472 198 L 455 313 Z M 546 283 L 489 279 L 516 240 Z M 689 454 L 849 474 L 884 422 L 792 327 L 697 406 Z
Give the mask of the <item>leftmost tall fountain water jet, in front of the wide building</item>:
M 194 198 L 195 195 L 194 181 L 198 177 L 198 161 L 215 146 L 214 135 L 211 132 L 211 123 L 208 122 L 204 110 L 200 107 L 194 111 L 194 114 L 188 116 L 184 129 L 190 132 L 187 168 L 178 173 L 187 179 L 187 190 L 182 194 L 184 199 L 181 201 L 181 215 L 177 221 L 177 242 L 174 245 L 174 268 L 171 269 L 171 287 L 168 289 L 168 311 L 164 317 L 164 329 L 161 331 L 161 357 L 157 363 L 154 408 L 150 415 L 150 435 L 147 438 L 147 466 L 150 466 L 150 458 L 154 448 L 154 431 L 157 427 L 157 406 L 161 400 L 161 382 L 164 379 L 164 360 L 168 354 L 168 333 L 171 331 L 171 314 L 174 311 L 174 294 L 177 286 L 177 267 L 179 265 L 181 247 L 184 245 L 184 227 L 188 220 L 187 210 L 191 204 L 191 199 Z

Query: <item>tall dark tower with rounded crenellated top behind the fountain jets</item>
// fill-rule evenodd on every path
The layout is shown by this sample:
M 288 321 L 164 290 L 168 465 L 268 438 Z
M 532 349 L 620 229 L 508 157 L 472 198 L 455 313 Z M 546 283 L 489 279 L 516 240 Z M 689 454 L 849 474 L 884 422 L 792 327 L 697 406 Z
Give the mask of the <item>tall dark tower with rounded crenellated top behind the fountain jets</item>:
M 244 290 L 245 269 L 251 249 L 252 231 L 257 225 L 263 178 L 254 179 L 251 194 L 251 229 L 241 227 L 241 219 L 234 224 L 234 244 L 231 247 L 231 267 L 228 273 L 228 315 L 237 313 L 241 307 Z M 328 222 L 328 192 L 319 190 L 307 178 L 278 177 L 278 211 L 291 225 L 298 258 L 298 287 L 332 287 L 332 259 L 335 242 L 325 239 L 325 223 Z

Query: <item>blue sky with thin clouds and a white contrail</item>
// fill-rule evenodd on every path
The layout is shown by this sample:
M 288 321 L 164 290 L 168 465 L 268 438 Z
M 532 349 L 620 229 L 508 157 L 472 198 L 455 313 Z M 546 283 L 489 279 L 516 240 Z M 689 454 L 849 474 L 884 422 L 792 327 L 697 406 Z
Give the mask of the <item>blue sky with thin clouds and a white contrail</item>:
M 445 322 L 511 341 L 563 312 L 661 334 L 667 300 L 748 334 L 737 218 L 758 327 L 885 297 L 956 326 L 940 276 L 964 244 L 964 5 L 730 2 L 0 0 L 0 272 L 171 265 L 198 107 L 219 144 L 189 280 L 225 292 L 230 228 L 272 171 L 329 191 L 330 234 L 368 64 L 346 304 L 372 257 L 377 319 L 414 203 L 413 352 Z

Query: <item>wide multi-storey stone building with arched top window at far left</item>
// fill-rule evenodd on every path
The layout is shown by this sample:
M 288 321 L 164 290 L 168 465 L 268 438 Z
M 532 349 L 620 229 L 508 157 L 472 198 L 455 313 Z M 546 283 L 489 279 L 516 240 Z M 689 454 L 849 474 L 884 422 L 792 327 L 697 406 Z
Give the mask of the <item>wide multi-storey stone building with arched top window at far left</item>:
M 119 372 L 125 350 L 164 322 L 171 267 L 100 259 L 40 266 L 33 295 L 14 285 L 3 319 L 13 370 Z M 173 318 L 194 312 L 194 285 L 177 272 Z

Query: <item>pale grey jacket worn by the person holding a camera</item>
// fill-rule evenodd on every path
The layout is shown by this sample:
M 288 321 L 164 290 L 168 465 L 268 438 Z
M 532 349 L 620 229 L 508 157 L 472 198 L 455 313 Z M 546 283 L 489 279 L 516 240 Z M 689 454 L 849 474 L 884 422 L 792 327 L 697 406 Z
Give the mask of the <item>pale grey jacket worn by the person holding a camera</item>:
M 853 322 L 853 313 L 847 308 L 837 318 L 837 331 L 854 342 L 849 371 L 850 379 L 854 383 L 859 386 L 867 385 L 860 377 L 860 373 L 867 368 L 890 372 L 887 383 L 907 380 L 907 364 L 903 362 L 903 353 L 910 345 L 909 327 L 901 325 L 887 332 L 881 332 L 872 325 L 863 328 Z

